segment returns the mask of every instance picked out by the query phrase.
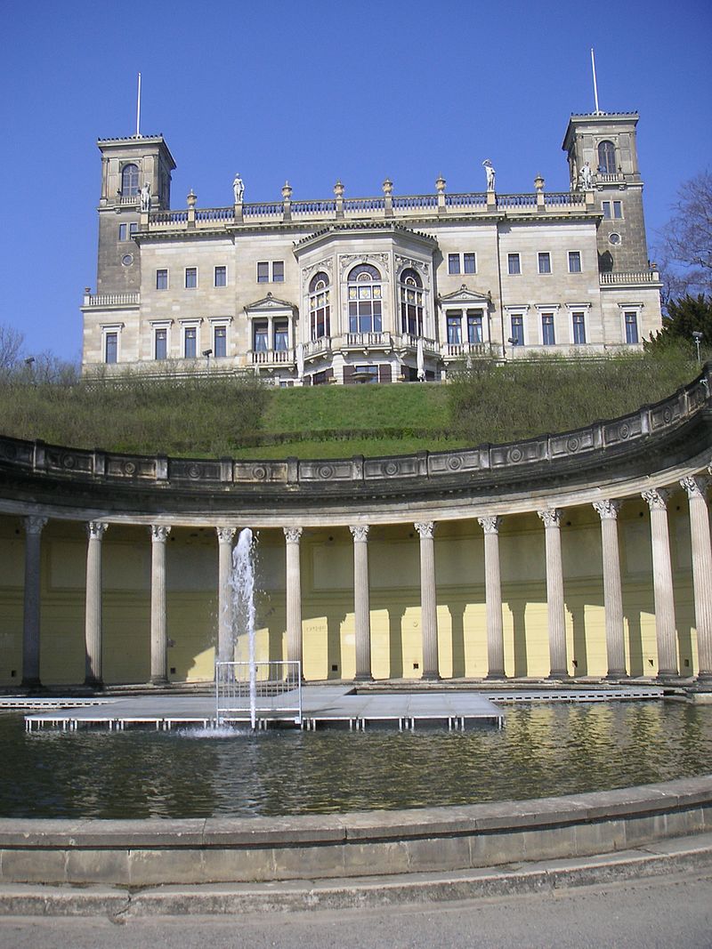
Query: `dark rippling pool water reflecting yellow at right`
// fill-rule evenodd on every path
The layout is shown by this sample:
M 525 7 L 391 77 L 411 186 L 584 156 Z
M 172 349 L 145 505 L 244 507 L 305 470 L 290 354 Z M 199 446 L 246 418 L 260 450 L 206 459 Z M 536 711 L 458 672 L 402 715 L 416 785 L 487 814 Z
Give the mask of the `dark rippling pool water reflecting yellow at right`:
M 500 732 L 24 731 L 0 716 L 0 816 L 207 817 L 417 808 L 712 772 L 712 707 L 508 708 Z

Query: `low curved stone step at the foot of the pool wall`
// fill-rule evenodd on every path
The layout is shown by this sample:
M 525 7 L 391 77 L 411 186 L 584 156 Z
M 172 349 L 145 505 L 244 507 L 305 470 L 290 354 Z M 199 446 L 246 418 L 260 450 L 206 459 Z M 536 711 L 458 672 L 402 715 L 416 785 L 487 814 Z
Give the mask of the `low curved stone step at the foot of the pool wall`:
M 400 874 L 279 884 L 118 887 L 0 886 L 0 916 L 187 916 L 353 909 L 551 893 L 674 873 L 712 873 L 712 834 L 661 847 L 577 861 L 524 864 L 497 871 Z

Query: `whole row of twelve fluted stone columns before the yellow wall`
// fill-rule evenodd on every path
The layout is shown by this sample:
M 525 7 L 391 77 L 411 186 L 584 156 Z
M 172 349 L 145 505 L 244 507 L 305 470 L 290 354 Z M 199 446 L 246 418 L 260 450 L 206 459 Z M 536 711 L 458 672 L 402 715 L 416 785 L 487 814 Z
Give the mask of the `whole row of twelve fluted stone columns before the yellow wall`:
M 692 547 L 692 579 L 698 636 L 699 679 L 712 681 L 712 546 L 710 544 L 706 474 L 684 477 L 680 485 L 689 503 Z M 665 679 L 678 675 L 677 630 L 673 598 L 672 565 L 667 526 L 669 488 L 655 488 L 641 496 L 650 512 L 650 540 L 653 564 L 655 628 L 658 675 Z M 625 499 L 607 498 L 593 502 L 601 520 L 602 568 L 608 676 L 627 675 L 621 564 L 618 544 L 618 512 Z M 560 508 L 537 511 L 544 525 L 546 549 L 546 591 L 549 628 L 550 678 L 568 679 L 564 569 L 561 556 Z M 23 624 L 23 684 L 40 682 L 40 553 L 42 530 L 47 518 L 30 515 L 25 524 L 25 601 Z M 488 679 L 504 678 L 504 636 L 502 588 L 499 564 L 499 530 L 502 516 L 478 517 L 484 533 L 484 572 Z M 87 524 L 85 592 L 85 682 L 99 686 L 102 670 L 102 545 L 107 521 Z M 422 679 L 439 679 L 438 616 L 435 573 L 435 521 L 419 521 L 420 537 Z M 168 636 L 166 623 L 166 540 L 171 527 L 150 525 L 151 535 L 151 681 L 168 681 Z M 229 577 L 236 529 L 215 528 L 218 544 L 218 629 L 217 658 L 229 658 L 232 635 Z M 284 528 L 286 546 L 287 659 L 302 661 L 301 527 Z M 367 524 L 349 528 L 353 540 L 353 590 L 355 619 L 355 679 L 371 679 L 370 596 L 368 580 Z

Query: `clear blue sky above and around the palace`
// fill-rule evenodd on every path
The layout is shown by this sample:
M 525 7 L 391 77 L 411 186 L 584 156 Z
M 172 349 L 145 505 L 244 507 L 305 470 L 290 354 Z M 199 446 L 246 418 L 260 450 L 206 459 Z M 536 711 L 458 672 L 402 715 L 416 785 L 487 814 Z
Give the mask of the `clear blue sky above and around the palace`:
M 173 207 L 232 201 L 568 189 L 571 112 L 638 110 L 648 235 L 681 184 L 712 166 L 709 0 L 587 4 L 480 0 L 3 0 L 5 238 L 0 324 L 28 352 L 79 358 L 96 282 L 99 137 L 162 132 Z

